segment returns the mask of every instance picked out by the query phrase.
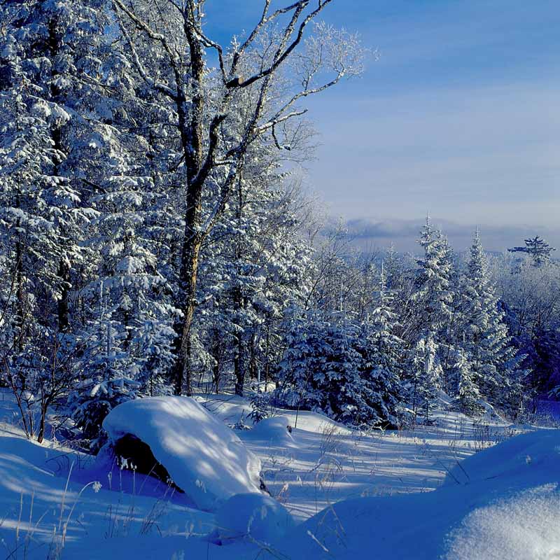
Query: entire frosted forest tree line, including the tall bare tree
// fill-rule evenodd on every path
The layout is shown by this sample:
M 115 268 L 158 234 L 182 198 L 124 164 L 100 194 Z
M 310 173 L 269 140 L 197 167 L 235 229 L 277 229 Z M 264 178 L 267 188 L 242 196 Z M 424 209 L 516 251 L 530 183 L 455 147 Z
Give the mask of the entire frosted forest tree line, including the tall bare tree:
M 329 3 L 265 2 L 228 48 L 201 0 L 2 3 L 0 376 L 28 433 L 55 409 L 95 447 L 123 400 L 230 387 L 389 426 L 560 386 L 549 253 L 488 262 L 476 233 L 461 259 L 428 220 L 418 258 L 360 255 L 316 218 L 305 103 L 364 55 Z

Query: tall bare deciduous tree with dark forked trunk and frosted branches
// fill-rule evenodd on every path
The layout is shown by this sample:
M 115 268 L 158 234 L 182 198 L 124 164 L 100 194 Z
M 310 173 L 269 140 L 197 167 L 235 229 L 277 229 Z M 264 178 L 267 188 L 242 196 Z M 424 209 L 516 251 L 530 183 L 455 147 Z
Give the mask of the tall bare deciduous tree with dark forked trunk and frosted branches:
M 234 39 L 225 49 L 204 31 L 204 0 L 112 0 L 127 57 L 176 116 L 181 143 L 186 210 L 176 394 L 192 392 L 190 328 L 200 249 L 227 208 L 249 148 L 268 142 L 290 151 L 290 136 L 307 111 L 300 102 L 361 71 L 363 53 L 356 36 L 318 22 L 332 1 L 298 0 L 273 10 L 272 0 L 264 0 L 244 41 Z M 151 73 L 154 50 L 167 75 Z M 214 71 L 207 64 L 209 55 L 217 59 Z

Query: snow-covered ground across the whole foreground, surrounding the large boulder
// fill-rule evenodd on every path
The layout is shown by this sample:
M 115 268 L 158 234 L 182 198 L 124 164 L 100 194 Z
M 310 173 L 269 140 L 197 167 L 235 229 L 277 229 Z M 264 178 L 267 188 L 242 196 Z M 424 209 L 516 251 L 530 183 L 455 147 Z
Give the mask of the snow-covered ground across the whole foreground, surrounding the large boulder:
M 198 400 L 228 425 L 239 426 L 250 409 L 232 395 Z M 365 434 L 310 412 L 296 422 L 295 411 L 281 410 L 235 430 L 260 458 L 272 496 L 295 518 L 290 528 L 274 503 L 251 514 L 249 502 L 236 498 L 216 515 L 202 512 L 156 479 L 59 443 L 27 441 L 1 393 L 3 552 L 106 560 L 560 557 L 553 530 L 560 525 L 559 430 L 473 424 L 451 412 L 435 420 L 414 431 Z M 521 431 L 528 433 L 510 439 Z M 475 454 L 495 442 L 502 443 Z M 220 546 L 216 519 L 237 528 L 246 519 L 255 531 Z M 283 527 L 276 538 L 267 519 Z

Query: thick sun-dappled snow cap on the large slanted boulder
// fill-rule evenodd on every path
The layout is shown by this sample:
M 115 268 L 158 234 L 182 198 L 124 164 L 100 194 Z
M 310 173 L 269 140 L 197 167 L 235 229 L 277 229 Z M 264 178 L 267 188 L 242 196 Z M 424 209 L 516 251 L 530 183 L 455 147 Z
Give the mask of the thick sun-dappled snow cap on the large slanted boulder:
M 103 427 L 113 444 L 127 435 L 147 444 L 202 510 L 216 510 L 234 494 L 260 493 L 260 460 L 192 398 L 130 400 L 111 410 Z

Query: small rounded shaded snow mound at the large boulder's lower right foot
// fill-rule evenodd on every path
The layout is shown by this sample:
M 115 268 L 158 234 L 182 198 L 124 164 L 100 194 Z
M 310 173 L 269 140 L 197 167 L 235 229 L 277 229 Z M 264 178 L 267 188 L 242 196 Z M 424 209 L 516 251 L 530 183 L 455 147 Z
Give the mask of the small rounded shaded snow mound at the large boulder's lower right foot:
M 222 542 L 251 536 L 259 542 L 274 542 L 295 525 L 281 503 L 264 494 L 237 494 L 216 513 Z

